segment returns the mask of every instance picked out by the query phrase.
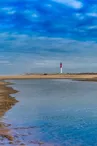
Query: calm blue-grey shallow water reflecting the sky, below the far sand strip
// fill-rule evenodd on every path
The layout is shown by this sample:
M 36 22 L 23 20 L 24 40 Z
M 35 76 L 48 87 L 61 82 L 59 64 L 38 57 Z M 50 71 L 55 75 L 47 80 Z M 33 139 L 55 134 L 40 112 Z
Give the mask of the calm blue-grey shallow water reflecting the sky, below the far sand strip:
M 26 145 L 97 146 L 97 83 L 13 80 L 19 101 L 5 114 Z M 29 143 L 30 142 L 30 143 Z M 31 144 L 32 145 L 32 144 Z

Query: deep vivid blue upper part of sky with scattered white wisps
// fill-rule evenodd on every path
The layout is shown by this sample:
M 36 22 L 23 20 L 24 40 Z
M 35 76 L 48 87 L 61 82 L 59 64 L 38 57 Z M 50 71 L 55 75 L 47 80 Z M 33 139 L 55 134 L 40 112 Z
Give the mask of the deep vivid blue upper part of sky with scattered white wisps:
M 96 13 L 94 1 L 91 5 L 81 0 L 8 0 L 0 5 L 0 32 L 95 40 L 96 28 L 86 28 L 97 24 Z

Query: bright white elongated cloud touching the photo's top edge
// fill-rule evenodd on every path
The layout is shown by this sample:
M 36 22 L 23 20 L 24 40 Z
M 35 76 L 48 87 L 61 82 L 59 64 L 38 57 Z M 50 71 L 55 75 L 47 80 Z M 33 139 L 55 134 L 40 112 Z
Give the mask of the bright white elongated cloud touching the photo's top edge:
M 78 0 L 53 0 L 53 1 L 68 5 L 70 7 L 75 8 L 75 9 L 80 9 L 83 7 L 83 4 Z

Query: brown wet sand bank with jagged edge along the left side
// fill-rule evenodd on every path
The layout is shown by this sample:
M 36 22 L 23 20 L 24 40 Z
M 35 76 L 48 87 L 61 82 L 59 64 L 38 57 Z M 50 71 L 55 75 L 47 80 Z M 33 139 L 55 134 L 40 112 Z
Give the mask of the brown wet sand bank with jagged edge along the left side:
M 17 91 L 11 87 L 7 87 L 8 84 L 0 81 L 0 145 L 3 145 L 3 142 L 6 140 L 9 143 L 14 140 L 11 135 L 11 130 L 8 128 L 9 124 L 5 124 L 2 121 L 4 114 L 17 103 L 17 100 L 10 96 L 10 94 L 16 93 Z

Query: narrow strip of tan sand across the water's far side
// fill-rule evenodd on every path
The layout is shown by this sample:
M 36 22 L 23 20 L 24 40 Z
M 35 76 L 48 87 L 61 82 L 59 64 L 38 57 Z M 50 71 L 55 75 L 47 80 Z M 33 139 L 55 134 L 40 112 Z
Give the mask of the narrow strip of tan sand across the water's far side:
M 22 79 L 72 79 L 76 81 L 93 81 L 97 82 L 97 73 L 78 73 L 78 74 L 31 74 L 31 75 L 6 75 L 0 76 L 2 84 L 11 84 L 5 80 L 22 80 Z

